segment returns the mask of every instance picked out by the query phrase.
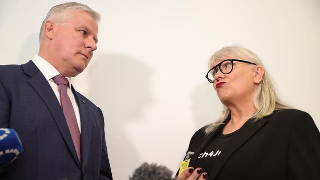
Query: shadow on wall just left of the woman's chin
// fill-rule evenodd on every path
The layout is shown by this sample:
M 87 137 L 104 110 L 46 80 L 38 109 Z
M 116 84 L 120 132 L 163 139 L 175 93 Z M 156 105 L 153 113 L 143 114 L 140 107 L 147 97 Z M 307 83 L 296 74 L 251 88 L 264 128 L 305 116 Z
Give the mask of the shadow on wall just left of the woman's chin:
M 210 83 L 196 86 L 192 90 L 191 102 L 191 111 L 197 129 L 215 122 L 222 113 L 223 105 Z

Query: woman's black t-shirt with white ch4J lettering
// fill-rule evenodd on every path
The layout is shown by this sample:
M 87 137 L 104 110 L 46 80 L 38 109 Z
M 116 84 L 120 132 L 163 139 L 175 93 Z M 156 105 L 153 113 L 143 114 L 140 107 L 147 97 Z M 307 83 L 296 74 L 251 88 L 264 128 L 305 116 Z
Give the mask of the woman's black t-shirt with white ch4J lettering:
M 221 157 L 221 154 L 224 153 L 228 143 L 238 131 L 239 129 L 224 135 L 221 130 L 200 154 L 193 156 L 193 158 L 197 158 L 194 167 L 201 167 L 203 171 L 210 172 L 211 169 L 216 166 L 217 159 Z

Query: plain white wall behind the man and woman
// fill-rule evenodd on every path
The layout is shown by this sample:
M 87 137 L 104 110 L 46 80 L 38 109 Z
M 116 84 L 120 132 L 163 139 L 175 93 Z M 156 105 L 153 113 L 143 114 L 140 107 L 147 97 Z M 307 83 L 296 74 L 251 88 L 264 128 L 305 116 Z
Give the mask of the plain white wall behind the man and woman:
M 48 10 L 62 0 L 0 1 L 0 64 L 38 49 Z M 192 134 L 221 113 L 204 78 L 223 46 L 254 51 L 279 95 L 320 127 L 319 0 L 81 0 L 102 15 L 98 50 L 75 88 L 104 113 L 115 180 L 142 162 L 176 171 Z

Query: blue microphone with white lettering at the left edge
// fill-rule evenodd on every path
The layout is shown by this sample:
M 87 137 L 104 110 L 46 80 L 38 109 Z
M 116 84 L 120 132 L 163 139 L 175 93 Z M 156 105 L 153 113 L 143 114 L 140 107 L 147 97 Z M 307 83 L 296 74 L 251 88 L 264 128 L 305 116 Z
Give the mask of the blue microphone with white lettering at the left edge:
M 22 144 L 16 131 L 0 128 L 0 167 L 10 164 L 22 152 Z

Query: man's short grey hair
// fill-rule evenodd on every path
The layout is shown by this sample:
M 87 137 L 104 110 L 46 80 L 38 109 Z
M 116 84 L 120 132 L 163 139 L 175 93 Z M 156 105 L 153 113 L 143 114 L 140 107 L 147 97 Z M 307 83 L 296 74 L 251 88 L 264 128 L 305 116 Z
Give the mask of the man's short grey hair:
M 39 33 L 40 43 L 43 37 L 44 23 L 48 20 L 54 20 L 56 22 L 64 23 L 66 20 L 68 20 L 68 17 L 69 17 L 68 13 L 70 12 L 70 10 L 80 10 L 80 11 L 87 12 L 96 20 L 96 22 L 100 21 L 100 14 L 85 4 L 78 3 L 78 2 L 66 2 L 63 4 L 55 5 L 49 10 L 46 18 L 43 20 L 41 24 L 40 33 Z

